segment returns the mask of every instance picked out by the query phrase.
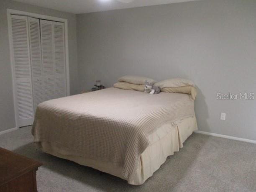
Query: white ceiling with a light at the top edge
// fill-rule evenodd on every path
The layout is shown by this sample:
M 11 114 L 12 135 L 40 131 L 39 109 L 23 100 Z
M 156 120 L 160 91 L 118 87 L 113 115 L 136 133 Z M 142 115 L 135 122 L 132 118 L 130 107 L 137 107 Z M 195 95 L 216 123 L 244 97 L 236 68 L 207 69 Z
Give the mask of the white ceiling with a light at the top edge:
M 194 0 L 134 0 L 131 3 L 121 3 L 118 0 L 15 0 L 22 3 L 37 5 L 44 8 L 65 11 L 69 13 L 90 13 L 104 10 L 135 8 L 150 5 L 179 3 Z

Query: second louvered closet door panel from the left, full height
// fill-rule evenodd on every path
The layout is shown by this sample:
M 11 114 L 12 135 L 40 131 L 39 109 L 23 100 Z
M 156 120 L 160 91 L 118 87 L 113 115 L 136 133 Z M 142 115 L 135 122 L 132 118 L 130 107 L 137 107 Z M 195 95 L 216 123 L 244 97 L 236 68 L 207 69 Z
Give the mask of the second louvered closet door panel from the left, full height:
M 34 112 L 36 112 L 37 105 L 44 101 L 39 19 L 29 17 L 28 29 L 32 72 L 33 102 Z

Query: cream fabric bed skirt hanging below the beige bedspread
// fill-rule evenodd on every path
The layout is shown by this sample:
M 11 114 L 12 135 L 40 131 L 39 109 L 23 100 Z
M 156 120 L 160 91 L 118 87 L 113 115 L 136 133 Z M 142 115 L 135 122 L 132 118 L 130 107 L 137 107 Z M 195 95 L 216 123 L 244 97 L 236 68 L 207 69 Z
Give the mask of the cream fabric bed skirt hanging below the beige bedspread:
M 197 120 L 195 117 L 180 120 L 177 125 L 159 128 L 150 135 L 150 145 L 141 154 L 138 160 L 136 175 L 129 184 L 141 185 L 146 179 L 151 177 L 159 167 L 166 161 L 166 158 L 173 155 L 183 147 L 184 141 L 197 130 Z M 73 155 L 72 151 L 56 143 L 36 142 L 38 148 L 47 154 L 57 156 L 62 159 L 74 161 L 84 166 L 90 166 L 102 172 L 112 174 L 122 179 L 122 167 L 113 169 L 111 162 L 97 161 L 90 158 Z M 172 173 L 170 173 L 172 174 Z

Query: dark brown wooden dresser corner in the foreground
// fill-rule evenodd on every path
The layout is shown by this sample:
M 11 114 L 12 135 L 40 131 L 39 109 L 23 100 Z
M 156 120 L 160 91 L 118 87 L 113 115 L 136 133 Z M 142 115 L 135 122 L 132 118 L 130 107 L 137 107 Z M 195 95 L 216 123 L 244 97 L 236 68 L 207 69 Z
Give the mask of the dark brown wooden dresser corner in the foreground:
M 0 148 L 0 192 L 36 192 L 42 163 Z

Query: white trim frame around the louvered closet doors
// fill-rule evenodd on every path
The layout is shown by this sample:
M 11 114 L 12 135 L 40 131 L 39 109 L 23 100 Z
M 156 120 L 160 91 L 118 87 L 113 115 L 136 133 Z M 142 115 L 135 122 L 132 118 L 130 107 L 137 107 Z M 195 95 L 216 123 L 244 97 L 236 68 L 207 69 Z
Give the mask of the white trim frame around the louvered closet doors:
M 64 47 L 65 47 L 65 71 L 66 71 L 66 93 L 67 96 L 70 95 L 70 87 L 69 87 L 69 45 L 68 45 L 68 20 L 64 18 L 57 18 L 48 15 L 41 15 L 36 13 L 29 13 L 26 11 L 7 9 L 7 20 L 8 20 L 8 34 L 9 34 L 9 44 L 10 44 L 10 64 L 12 69 L 12 81 L 13 81 L 13 104 L 14 104 L 14 113 L 15 113 L 15 128 L 11 128 L 11 130 L 15 130 L 19 128 L 18 124 L 18 109 L 17 109 L 17 100 L 16 100 L 16 82 L 15 82 L 15 69 L 14 69 L 14 53 L 13 53 L 13 38 L 12 38 L 12 23 L 11 23 L 11 15 L 22 15 L 28 16 L 38 19 L 44 20 L 53 20 L 57 22 L 64 23 Z

